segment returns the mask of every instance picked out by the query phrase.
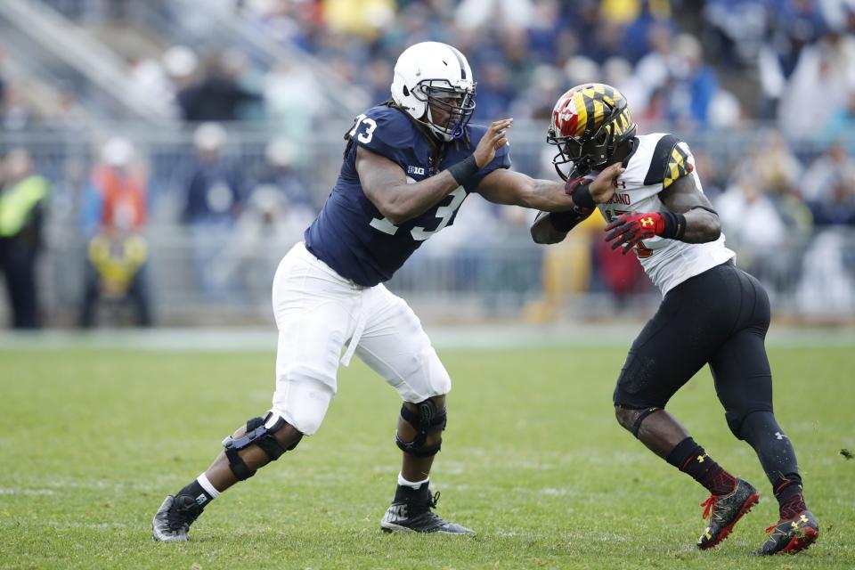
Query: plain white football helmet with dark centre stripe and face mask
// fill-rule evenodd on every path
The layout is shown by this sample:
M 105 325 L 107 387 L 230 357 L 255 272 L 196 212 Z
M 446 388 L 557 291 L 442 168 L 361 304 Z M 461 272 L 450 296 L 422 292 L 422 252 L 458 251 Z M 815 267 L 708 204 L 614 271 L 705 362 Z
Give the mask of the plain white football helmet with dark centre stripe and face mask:
M 475 110 L 475 81 L 462 53 L 448 44 L 422 42 L 395 63 L 392 99 L 444 141 L 460 139 Z M 448 118 L 437 123 L 431 105 Z

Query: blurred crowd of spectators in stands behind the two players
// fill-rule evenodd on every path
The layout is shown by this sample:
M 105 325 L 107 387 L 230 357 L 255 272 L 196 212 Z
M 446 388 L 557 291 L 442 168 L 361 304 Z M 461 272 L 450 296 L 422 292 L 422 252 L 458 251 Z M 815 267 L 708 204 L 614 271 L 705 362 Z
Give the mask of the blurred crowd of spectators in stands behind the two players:
M 128 0 L 45 4 L 108 25 L 134 7 Z M 204 20 L 198 2 L 148 4 L 175 22 Z M 818 238 L 828 228 L 855 227 L 855 0 L 210 0 L 205 9 L 292 57 L 265 66 L 248 45 L 197 49 L 167 29 L 150 30 L 162 34 L 162 49 L 118 49 L 132 91 L 190 130 L 193 151 L 180 153 L 177 163 L 163 159 L 151 143 L 156 137 L 141 144 L 133 135 L 102 133 L 87 137 L 100 140 L 93 158 L 48 168 L 37 152 L 30 159 L 26 145 L 0 138 L 0 261 L 6 289 L 18 296 L 12 305 L 36 303 L 15 301 L 28 281 L 14 275 L 34 279 L 28 267 L 45 221 L 73 227 L 85 240 L 81 326 L 93 326 L 103 305 L 117 301 L 131 305 L 134 322 L 154 320 L 146 269 L 152 223 L 180 225 L 191 236 L 195 280 L 210 302 L 240 297 L 236 281 L 267 280 L 266 272 L 253 276 L 246 260 L 259 249 L 281 255 L 273 246 L 299 239 L 330 190 L 313 185 L 312 171 L 334 164 L 330 157 L 340 149 L 312 161 L 305 148 L 311 145 L 297 142 L 330 123 L 346 130 L 341 120 L 330 121 L 330 105 L 349 101 L 349 93 L 321 96 L 330 77 L 353 85 L 354 97 L 357 90 L 367 94 L 366 104 L 382 102 L 397 55 L 424 40 L 450 43 L 468 56 L 481 122 L 512 116 L 541 125 L 569 86 L 617 86 L 642 132 L 667 130 L 692 145 L 704 191 L 742 265 L 782 283 L 810 273 L 817 281 L 810 287 L 832 291 L 826 297 L 847 288 L 851 295 L 851 281 L 832 282 L 848 279 L 846 242 L 835 232 Z M 90 128 L 85 90 L 40 85 L 3 42 L 0 137 Z M 230 143 L 233 131 L 247 126 L 276 134 L 253 159 Z M 722 152 L 734 144 L 742 144 L 739 152 Z M 549 159 L 517 164 L 551 177 Z M 496 228 L 528 221 L 508 208 L 483 208 L 482 216 L 479 228 L 487 220 Z M 637 264 L 621 265 L 597 243 L 585 241 L 583 255 L 574 250 L 584 258 L 574 265 L 576 290 L 602 289 L 621 299 L 647 288 Z M 795 244 L 821 246 L 824 255 L 777 255 Z M 554 267 L 549 259 L 544 267 L 549 295 Z M 15 315 L 16 326 L 37 324 L 37 311 L 27 312 Z

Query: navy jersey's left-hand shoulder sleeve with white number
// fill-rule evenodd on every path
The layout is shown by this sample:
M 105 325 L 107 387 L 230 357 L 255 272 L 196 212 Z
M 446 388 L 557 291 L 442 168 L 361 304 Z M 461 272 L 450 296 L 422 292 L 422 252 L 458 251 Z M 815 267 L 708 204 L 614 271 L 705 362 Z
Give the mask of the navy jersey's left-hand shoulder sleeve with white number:
M 350 136 L 359 146 L 401 163 L 402 150 L 411 148 L 414 132 L 401 111 L 375 107 L 354 120 Z

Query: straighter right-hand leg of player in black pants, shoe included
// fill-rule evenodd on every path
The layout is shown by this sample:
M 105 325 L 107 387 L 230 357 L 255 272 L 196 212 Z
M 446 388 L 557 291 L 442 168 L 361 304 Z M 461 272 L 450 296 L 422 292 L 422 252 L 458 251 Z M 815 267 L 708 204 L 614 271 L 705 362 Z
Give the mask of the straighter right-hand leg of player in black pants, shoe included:
M 710 368 L 731 431 L 753 447 L 778 499 L 780 519 L 757 553 L 797 552 L 816 541 L 819 526 L 802 495 L 793 444 L 772 411 L 772 375 L 764 346 L 769 297 L 753 277 L 738 273 L 745 326 L 721 346 Z

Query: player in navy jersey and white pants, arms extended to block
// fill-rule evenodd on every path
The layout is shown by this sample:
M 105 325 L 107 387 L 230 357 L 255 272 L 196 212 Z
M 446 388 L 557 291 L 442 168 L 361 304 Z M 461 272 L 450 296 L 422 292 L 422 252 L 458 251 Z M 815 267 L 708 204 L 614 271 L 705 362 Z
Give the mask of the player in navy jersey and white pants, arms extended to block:
M 469 124 L 475 87 L 457 49 L 412 45 L 395 64 L 392 98 L 355 118 L 338 182 L 273 278 L 273 405 L 226 437 L 207 471 L 167 496 L 154 517 L 155 540 L 186 541 L 210 501 L 313 435 L 336 394 L 338 363 L 354 354 L 403 400 L 395 435 L 403 462 L 380 527 L 472 533 L 438 517 L 432 509 L 439 493 L 428 489 L 451 380 L 410 306 L 383 283 L 454 222 L 470 193 L 542 210 L 573 206 L 564 183 L 509 170 L 512 119 Z

